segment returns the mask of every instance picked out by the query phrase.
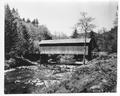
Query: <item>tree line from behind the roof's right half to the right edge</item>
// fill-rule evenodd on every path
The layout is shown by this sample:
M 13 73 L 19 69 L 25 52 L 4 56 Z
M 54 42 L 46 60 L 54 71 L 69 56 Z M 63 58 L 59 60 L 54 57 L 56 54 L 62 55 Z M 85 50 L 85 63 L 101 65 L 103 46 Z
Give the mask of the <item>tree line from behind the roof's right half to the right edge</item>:
M 118 31 L 118 26 L 114 26 L 109 31 L 103 29 L 102 33 L 90 31 L 86 33 L 86 37 L 94 38 L 94 40 L 97 43 L 96 45 L 97 51 L 114 53 L 117 52 L 117 31 Z M 73 33 L 73 35 L 71 36 L 72 38 L 85 37 L 85 33 L 76 33 L 76 32 Z

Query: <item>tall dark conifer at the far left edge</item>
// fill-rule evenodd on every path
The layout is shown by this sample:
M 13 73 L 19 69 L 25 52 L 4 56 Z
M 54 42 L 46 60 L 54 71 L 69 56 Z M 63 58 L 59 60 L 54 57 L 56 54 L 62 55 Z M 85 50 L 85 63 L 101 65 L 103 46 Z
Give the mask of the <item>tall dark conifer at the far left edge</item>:
M 10 53 L 17 37 L 17 24 L 9 5 L 5 5 L 5 56 Z

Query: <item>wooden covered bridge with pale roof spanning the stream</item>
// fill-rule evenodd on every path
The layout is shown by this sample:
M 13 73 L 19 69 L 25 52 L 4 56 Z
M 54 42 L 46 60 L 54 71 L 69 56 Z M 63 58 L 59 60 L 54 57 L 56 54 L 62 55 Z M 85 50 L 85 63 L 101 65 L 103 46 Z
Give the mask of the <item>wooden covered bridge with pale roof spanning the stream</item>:
M 86 45 L 86 46 L 85 46 Z M 91 38 L 79 39 L 57 39 L 57 40 L 42 40 L 39 43 L 41 61 L 45 62 L 49 56 L 54 55 L 75 55 L 76 58 L 83 58 L 86 48 L 86 58 L 91 59 L 91 52 L 95 48 L 95 40 Z

